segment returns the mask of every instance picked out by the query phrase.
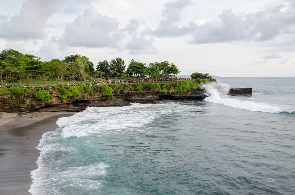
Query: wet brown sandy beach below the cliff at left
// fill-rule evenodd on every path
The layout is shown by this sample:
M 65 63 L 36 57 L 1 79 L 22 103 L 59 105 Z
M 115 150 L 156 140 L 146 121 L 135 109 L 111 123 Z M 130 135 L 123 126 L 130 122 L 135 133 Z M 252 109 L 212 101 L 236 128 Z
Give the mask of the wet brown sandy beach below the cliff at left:
M 56 121 L 74 112 L 0 112 L 0 195 L 30 195 L 30 172 L 37 169 L 41 136 L 57 129 Z

